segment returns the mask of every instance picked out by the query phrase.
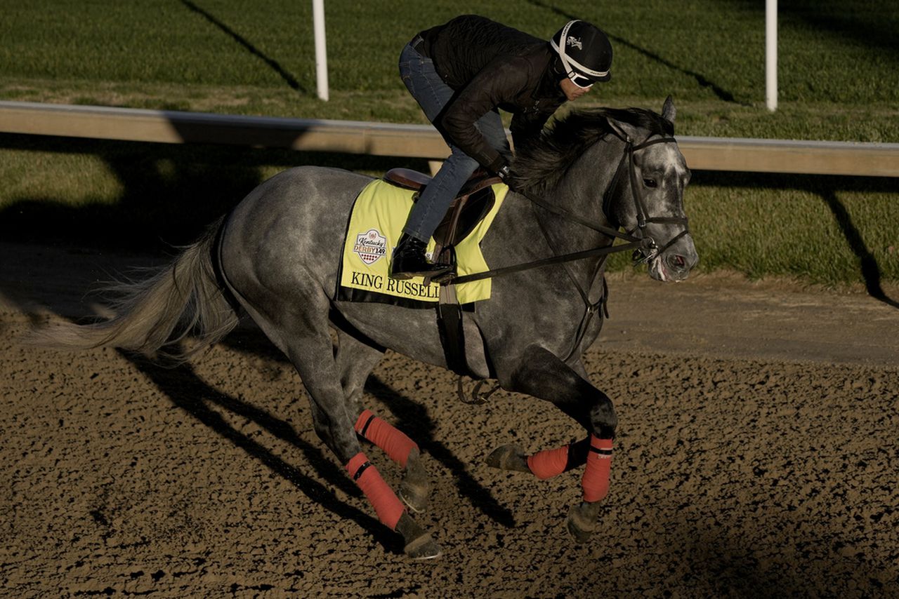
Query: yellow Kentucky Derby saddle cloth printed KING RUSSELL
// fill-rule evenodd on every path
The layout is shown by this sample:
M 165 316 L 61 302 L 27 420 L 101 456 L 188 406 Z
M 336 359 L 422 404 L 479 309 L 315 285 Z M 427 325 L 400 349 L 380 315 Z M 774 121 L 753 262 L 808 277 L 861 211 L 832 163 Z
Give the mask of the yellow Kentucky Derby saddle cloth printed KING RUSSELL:
M 480 242 L 494 221 L 509 187 L 493 186 L 494 207 L 468 236 L 456 245 L 458 276 L 489 270 L 481 253 Z M 408 307 L 432 307 L 440 300 L 440 285 L 424 285 L 423 277 L 394 279 L 388 277 L 390 257 L 412 209 L 413 191 L 401 189 L 387 181 L 370 182 L 360 191 L 352 207 L 350 224 L 343 244 L 338 299 L 383 302 Z M 434 240 L 428 243 L 433 251 Z M 429 253 L 430 255 L 430 253 Z M 459 285 L 459 304 L 470 304 L 490 298 L 489 278 Z

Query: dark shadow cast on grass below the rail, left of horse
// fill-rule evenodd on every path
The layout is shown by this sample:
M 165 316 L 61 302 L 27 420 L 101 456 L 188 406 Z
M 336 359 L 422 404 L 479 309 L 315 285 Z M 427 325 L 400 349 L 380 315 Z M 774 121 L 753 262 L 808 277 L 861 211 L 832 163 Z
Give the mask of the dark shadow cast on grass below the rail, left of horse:
M 0 149 L 33 153 L 36 161 L 46 160 L 42 154 L 64 160 L 76 155 L 96 159 L 117 189 L 114 198 L 92 198 L 97 192 L 85 190 L 77 206 L 52 195 L 13 198 L 0 207 L 0 239 L 165 254 L 173 253 L 174 246 L 193 242 L 206 225 L 235 207 L 273 172 L 298 165 L 361 172 L 384 172 L 394 166 L 427 170 L 424 160 L 224 144 L 4 134 L 0 135 Z

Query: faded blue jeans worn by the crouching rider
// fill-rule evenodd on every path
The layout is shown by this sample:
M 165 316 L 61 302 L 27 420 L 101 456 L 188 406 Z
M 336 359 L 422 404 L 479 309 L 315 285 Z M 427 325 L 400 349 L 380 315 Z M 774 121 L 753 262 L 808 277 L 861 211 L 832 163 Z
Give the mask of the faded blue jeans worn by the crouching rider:
M 399 74 L 412 97 L 422 107 L 424 115 L 434 122 L 455 92 L 449 85 L 443 83 L 440 75 L 437 75 L 431 58 L 423 57 L 412 46 L 406 45 L 399 57 Z M 501 154 L 511 155 L 509 140 L 506 139 L 503 129 L 503 119 L 498 112 L 494 110 L 487 112 L 477 120 L 476 127 L 488 144 Z M 474 158 L 469 157 L 455 145 L 449 144 L 449 149 L 452 154 L 449 154 L 440 171 L 424 188 L 403 227 L 403 233 L 417 237 L 423 242 L 431 239 L 434 230 L 446 215 L 449 204 L 456 198 L 458 190 L 462 189 L 478 166 Z

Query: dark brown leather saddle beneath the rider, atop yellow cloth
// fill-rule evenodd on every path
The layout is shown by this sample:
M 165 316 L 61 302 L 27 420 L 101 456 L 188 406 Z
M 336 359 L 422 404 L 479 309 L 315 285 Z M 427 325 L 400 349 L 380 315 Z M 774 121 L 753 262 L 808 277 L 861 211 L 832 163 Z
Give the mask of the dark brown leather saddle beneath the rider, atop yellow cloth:
M 412 169 L 390 169 L 384 175 L 384 181 L 396 185 L 396 187 L 417 191 L 418 193 L 413 196 L 413 201 L 418 200 L 422 190 L 431 180 L 430 175 Z M 446 216 L 434 231 L 434 242 L 438 245 L 435 253 L 440 254 L 442 248 L 456 245 L 472 232 L 494 207 L 496 198 L 494 198 L 494 190 L 490 186 L 500 182 L 502 180 L 499 177 L 484 169 L 477 169 L 472 173 L 462 189 L 459 190 L 458 196 L 449 204 Z

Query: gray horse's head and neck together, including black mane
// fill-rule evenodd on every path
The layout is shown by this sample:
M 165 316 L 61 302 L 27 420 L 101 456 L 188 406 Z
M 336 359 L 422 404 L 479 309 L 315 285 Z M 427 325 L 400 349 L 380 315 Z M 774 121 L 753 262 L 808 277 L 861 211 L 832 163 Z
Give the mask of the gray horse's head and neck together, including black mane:
M 641 241 L 636 260 L 660 281 L 681 281 L 699 257 L 687 228 L 683 190 L 690 169 L 674 140 L 674 102 L 644 109 L 575 110 L 516 149 L 513 183 Z M 619 235 L 616 235 L 619 236 Z M 609 237 L 606 237 L 607 241 Z

